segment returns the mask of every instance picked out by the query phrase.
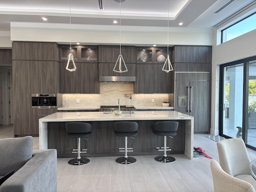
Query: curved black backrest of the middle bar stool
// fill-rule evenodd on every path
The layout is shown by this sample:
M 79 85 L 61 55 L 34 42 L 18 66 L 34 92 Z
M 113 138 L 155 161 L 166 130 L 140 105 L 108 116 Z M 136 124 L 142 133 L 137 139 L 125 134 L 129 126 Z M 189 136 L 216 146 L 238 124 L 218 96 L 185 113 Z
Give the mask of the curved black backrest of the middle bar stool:
M 132 121 L 120 121 L 114 122 L 114 130 L 116 132 L 136 132 L 138 131 L 139 125 Z

